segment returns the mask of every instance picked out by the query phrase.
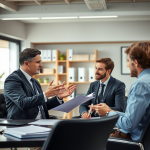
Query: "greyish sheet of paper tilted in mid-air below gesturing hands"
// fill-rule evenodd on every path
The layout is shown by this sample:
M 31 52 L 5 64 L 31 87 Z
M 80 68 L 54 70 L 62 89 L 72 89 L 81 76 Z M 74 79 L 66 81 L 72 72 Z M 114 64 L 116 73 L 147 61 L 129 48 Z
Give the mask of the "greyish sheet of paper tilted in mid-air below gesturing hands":
M 89 94 L 88 96 L 79 95 L 79 96 L 71 99 L 70 101 L 68 101 L 62 105 L 59 105 L 51 110 L 63 111 L 63 112 L 68 113 L 75 107 L 81 105 L 82 103 L 84 103 L 86 101 L 89 101 L 92 98 L 94 98 L 93 93 Z

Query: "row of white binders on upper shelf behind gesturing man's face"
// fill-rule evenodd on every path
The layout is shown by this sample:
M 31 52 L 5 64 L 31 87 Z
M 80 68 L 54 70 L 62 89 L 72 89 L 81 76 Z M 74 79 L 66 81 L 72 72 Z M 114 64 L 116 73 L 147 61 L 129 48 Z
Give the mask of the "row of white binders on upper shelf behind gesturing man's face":
M 40 50 L 42 61 L 56 61 L 56 50 Z

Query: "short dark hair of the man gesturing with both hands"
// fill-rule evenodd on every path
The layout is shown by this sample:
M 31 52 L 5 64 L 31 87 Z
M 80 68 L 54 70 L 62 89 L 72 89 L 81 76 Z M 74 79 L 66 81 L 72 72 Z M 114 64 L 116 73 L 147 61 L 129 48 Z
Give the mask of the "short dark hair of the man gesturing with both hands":
M 22 66 L 25 61 L 32 61 L 36 55 L 40 55 L 41 51 L 33 48 L 26 48 L 19 54 L 19 64 Z

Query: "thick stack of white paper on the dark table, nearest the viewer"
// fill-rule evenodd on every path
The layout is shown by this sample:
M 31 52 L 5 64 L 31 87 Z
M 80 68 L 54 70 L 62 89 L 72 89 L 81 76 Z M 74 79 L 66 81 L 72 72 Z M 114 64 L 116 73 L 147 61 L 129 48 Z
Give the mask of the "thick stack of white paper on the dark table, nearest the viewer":
M 17 138 L 34 138 L 34 137 L 46 137 L 50 133 L 50 130 L 51 128 L 30 125 L 17 128 L 6 128 L 4 130 L 4 133 L 15 136 Z

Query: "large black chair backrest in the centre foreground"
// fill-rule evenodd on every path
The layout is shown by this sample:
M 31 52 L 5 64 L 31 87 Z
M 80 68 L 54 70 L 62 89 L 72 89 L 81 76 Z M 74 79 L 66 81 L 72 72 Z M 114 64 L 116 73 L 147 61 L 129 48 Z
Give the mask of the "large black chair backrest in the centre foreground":
M 72 119 L 53 126 L 42 150 L 106 150 L 119 115 L 100 119 Z

